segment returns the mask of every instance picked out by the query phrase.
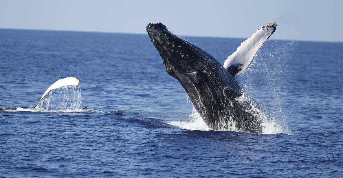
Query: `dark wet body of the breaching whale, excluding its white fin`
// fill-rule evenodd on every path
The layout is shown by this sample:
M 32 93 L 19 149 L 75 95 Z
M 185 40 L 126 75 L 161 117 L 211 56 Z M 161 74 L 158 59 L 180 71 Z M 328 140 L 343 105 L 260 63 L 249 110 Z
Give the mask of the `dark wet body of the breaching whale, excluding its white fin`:
M 216 59 L 170 33 L 162 23 L 148 24 L 146 31 L 167 73 L 184 87 L 210 129 L 226 130 L 235 122 L 239 130 L 262 132 L 259 113 L 251 106 L 257 104 L 237 100 L 244 89 Z

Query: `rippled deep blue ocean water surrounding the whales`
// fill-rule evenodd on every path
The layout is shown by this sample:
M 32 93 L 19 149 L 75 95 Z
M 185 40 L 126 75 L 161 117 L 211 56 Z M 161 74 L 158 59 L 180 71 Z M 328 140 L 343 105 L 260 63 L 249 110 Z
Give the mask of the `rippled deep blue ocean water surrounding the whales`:
M 244 40 L 183 38 L 221 63 Z M 0 111 L 0 177 L 342 177 L 342 49 L 265 43 L 237 78 L 274 118 L 256 134 L 208 130 L 147 35 L 0 29 L 0 106 L 69 76 L 82 95 Z

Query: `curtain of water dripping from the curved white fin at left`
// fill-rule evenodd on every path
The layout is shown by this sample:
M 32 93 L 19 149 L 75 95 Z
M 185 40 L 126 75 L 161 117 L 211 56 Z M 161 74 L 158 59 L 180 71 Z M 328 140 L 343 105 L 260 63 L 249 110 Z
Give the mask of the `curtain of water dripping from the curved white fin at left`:
M 74 86 L 64 86 L 55 89 L 41 100 L 35 109 L 38 111 L 48 110 L 79 110 L 82 103 L 81 88 Z

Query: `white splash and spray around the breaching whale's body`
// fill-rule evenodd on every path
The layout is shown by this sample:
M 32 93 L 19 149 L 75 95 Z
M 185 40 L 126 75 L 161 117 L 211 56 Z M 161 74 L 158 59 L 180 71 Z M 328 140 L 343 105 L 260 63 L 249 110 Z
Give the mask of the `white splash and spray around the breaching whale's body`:
M 270 40 L 261 48 L 245 74 L 238 78 L 245 91 L 250 93 L 263 109 L 266 109 L 263 111 L 246 93 L 237 99 L 250 104 L 250 113 L 258 114 L 263 134 L 293 135 L 285 114 L 289 99 L 287 98 L 288 82 L 285 76 L 291 51 L 296 44 L 295 40 Z M 230 118 L 230 120 L 234 119 Z M 210 130 L 195 109 L 188 120 L 170 121 L 169 124 L 187 130 Z M 243 131 L 237 129 L 233 121 L 218 125 L 221 125 L 221 128 L 215 130 Z

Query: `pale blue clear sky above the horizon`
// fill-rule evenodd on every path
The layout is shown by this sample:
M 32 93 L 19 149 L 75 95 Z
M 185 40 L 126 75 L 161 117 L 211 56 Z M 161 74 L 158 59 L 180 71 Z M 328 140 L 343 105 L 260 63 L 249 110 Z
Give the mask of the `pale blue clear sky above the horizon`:
M 0 28 L 145 34 L 161 22 L 184 36 L 343 41 L 343 0 L 0 0 Z

